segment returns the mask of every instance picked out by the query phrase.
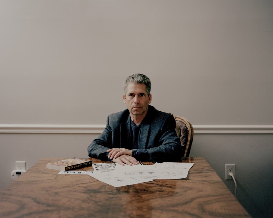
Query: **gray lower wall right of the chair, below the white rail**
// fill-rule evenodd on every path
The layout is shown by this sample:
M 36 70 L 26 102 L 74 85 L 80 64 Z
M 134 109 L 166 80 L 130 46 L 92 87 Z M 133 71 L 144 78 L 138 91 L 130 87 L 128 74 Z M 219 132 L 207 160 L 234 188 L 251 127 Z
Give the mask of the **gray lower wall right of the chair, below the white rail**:
M 225 164 L 236 164 L 236 197 L 252 217 L 272 217 L 273 134 L 197 134 L 190 156 L 207 159 L 229 190 Z

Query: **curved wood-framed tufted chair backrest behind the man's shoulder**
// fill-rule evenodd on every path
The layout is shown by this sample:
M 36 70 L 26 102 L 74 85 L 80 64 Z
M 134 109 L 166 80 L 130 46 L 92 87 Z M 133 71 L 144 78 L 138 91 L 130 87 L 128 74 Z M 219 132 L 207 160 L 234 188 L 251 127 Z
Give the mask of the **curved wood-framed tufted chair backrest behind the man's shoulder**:
M 192 124 L 184 117 L 174 116 L 176 122 L 175 131 L 180 138 L 181 146 L 184 150 L 184 157 L 189 157 L 193 141 Z

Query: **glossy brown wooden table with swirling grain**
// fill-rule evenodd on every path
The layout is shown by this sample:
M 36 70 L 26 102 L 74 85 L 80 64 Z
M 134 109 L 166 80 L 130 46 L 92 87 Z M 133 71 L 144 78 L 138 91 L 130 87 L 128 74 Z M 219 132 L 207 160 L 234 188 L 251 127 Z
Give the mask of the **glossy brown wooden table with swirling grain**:
M 2 190 L 0 217 L 249 217 L 203 157 L 182 158 L 195 163 L 186 179 L 119 188 L 46 169 L 46 163 L 63 159 L 41 159 Z

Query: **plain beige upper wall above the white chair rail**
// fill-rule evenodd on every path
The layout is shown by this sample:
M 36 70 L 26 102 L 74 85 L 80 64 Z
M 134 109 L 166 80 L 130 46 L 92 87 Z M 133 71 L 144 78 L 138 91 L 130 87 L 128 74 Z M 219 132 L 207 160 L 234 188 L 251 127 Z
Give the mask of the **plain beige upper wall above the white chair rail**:
M 272 1 L 0 1 L 1 124 L 102 124 L 122 81 L 196 125 L 272 125 Z

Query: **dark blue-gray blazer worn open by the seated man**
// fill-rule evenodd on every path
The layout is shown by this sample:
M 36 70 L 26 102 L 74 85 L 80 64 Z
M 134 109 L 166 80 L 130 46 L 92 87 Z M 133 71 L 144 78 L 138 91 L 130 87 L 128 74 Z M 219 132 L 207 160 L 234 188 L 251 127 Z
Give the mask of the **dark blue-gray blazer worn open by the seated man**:
M 175 126 L 172 115 L 149 105 L 142 121 L 139 149 L 132 149 L 133 157 L 140 161 L 181 161 L 182 147 Z M 128 148 L 130 131 L 128 109 L 110 114 L 104 131 L 87 148 L 89 157 L 105 159 L 109 148 Z

